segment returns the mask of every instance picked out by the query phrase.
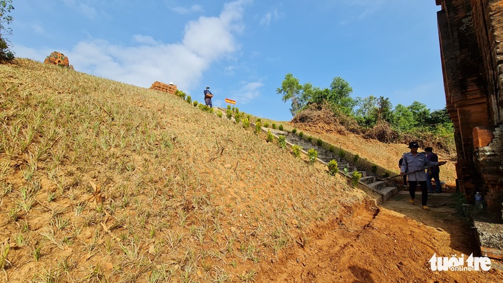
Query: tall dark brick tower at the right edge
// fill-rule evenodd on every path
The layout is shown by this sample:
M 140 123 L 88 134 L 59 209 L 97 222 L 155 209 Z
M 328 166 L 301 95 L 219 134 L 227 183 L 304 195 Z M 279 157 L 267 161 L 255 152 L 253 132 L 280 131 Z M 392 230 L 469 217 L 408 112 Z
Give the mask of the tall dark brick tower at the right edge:
M 446 107 L 454 123 L 457 185 L 481 191 L 503 216 L 503 0 L 435 0 Z

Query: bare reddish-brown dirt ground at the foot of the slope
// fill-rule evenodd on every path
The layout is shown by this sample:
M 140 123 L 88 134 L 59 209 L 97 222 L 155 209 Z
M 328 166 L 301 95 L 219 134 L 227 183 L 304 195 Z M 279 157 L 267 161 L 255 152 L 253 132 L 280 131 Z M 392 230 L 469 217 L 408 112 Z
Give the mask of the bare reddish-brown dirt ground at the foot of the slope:
M 438 256 L 480 256 L 469 222 L 450 193 L 432 195 L 424 211 L 401 191 L 378 209 L 316 227 L 302 245 L 267 263 L 256 282 L 502 282 L 503 272 L 431 271 Z M 467 258 L 466 256 L 465 258 Z

